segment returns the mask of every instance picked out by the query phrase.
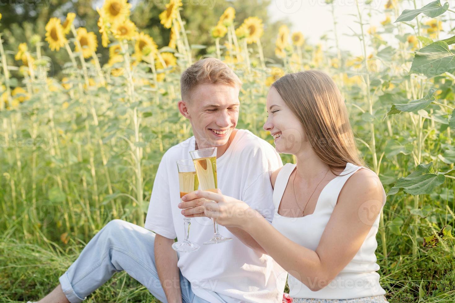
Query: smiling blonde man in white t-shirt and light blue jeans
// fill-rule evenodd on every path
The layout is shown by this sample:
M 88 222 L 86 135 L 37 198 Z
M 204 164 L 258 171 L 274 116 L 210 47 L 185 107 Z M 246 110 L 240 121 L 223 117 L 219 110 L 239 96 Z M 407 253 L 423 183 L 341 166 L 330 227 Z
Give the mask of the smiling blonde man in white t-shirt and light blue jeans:
M 237 75 L 217 59 L 197 61 L 183 72 L 178 109 L 189 119 L 194 136 L 163 155 L 145 228 L 118 219 L 106 224 L 60 277 L 61 285 L 40 302 L 81 302 L 121 270 L 162 302 L 282 301 L 287 273 L 268 255 L 244 245 L 236 237 L 245 236 L 240 229 L 219 226 L 219 232 L 233 240 L 201 245 L 196 252 L 177 255 L 171 247 L 174 238 L 184 238 L 183 214 L 200 213 L 200 206 L 178 208 L 176 162 L 191 159 L 189 152 L 195 149 L 217 147 L 218 188 L 272 220 L 270 174 L 283 164 L 270 144 L 235 128 L 241 85 Z M 211 219 L 192 219 L 193 242 L 202 244 L 212 235 Z

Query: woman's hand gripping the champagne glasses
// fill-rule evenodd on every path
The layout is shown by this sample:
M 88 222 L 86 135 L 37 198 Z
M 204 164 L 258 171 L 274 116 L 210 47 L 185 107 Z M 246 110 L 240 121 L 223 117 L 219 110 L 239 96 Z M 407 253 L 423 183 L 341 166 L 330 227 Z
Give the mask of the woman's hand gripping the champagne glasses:
M 182 214 L 187 218 L 217 219 L 217 223 L 225 227 L 244 228 L 248 219 L 260 216 L 245 202 L 225 196 L 219 189 L 217 189 L 217 193 L 196 190 L 186 194 L 182 197 L 182 203 L 178 207 L 184 209 Z

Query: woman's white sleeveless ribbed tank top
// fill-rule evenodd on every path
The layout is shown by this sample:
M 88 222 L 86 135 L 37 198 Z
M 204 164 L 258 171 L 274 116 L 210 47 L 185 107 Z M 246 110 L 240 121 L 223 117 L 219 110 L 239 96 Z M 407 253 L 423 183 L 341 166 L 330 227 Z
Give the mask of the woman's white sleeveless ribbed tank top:
M 288 184 L 289 176 L 295 166 L 296 164 L 285 164 L 278 173 L 273 189 L 275 214 L 272 225 L 293 242 L 315 251 L 329 222 L 343 185 L 350 176 L 363 166 L 357 166 L 352 163 L 346 164 L 344 171 L 332 179 L 321 191 L 313 214 L 299 218 L 289 218 L 279 215 L 278 207 L 283 197 L 284 189 Z M 385 201 L 385 191 L 383 201 Z M 376 255 L 374 254 L 378 246 L 376 233 L 379 227 L 379 217 L 380 215 L 375 219 L 364 243 L 354 258 L 329 285 L 314 292 L 297 278 L 294 278 L 292 273 L 289 273 L 289 295 L 292 298 L 315 299 L 352 299 L 384 295 L 386 292 L 379 284 L 379 274 L 376 272 L 379 269 L 379 265 L 376 263 Z

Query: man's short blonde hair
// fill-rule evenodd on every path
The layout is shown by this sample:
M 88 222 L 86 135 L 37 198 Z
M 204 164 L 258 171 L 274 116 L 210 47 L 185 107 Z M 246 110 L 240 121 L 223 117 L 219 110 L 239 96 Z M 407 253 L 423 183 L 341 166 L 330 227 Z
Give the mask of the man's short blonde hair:
M 225 63 L 216 58 L 206 58 L 188 67 L 180 77 L 182 99 L 189 101 L 198 84 L 226 84 L 240 88 L 242 81 Z

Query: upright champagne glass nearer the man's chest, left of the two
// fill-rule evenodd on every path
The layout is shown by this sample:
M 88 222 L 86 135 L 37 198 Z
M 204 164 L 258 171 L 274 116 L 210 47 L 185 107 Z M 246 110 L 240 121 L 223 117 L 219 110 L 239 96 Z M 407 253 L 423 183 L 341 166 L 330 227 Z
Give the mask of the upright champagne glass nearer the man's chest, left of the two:
M 199 181 L 197 180 L 196 170 L 194 169 L 194 164 L 192 160 L 182 159 L 177 161 L 178 169 L 178 184 L 180 187 L 180 199 L 188 193 L 195 191 L 199 187 Z M 195 252 L 201 246 L 196 242 L 188 240 L 190 233 L 190 221 L 191 218 L 185 217 L 184 219 L 185 227 L 185 239 L 183 241 L 178 241 L 172 244 L 172 248 L 178 252 L 189 253 Z

